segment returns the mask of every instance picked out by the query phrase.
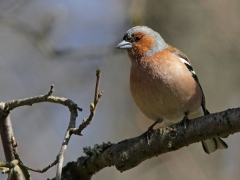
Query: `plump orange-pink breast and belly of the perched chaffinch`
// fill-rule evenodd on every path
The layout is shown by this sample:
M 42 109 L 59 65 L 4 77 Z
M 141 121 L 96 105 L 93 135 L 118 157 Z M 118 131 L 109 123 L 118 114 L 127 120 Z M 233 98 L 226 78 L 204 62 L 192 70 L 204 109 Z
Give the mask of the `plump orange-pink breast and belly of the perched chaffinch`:
M 148 118 L 179 121 L 196 112 L 202 92 L 186 66 L 168 50 L 132 61 L 130 89 L 134 101 Z

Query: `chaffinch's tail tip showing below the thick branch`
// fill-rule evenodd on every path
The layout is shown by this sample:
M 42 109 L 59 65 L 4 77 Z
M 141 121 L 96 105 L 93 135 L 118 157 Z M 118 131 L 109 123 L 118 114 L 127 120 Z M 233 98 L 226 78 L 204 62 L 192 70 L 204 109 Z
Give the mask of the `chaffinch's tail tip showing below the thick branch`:
M 216 151 L 217 149 L 227 149 L 228 148 L 228 145 L 220 137 L 202 141 L 202 146 L 203 146 L 204 151 L 207 154 L 210 154 L 210 153 Z

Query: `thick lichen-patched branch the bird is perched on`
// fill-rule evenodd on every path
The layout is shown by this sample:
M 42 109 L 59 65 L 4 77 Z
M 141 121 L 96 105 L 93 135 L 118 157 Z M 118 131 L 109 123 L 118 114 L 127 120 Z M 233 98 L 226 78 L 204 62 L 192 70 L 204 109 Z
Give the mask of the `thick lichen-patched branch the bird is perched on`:
M 92 149 L 85 148 L 87 156 L 78 158 L 77 162 L 68 163 L 63 168 L 63 177 L 87 180 L 97 171 L 113 165 L 123 172 L 146 159 L 216 136 L 226 137 L 239 131 L 240 108 L 228 109 L 196 118 L 189 122 L 186 130 L 182 123 L 156 129 L 150 134 L 150 145 L 146 133 L 143 133 L 117 144 L 108 143 L 95 145 Z

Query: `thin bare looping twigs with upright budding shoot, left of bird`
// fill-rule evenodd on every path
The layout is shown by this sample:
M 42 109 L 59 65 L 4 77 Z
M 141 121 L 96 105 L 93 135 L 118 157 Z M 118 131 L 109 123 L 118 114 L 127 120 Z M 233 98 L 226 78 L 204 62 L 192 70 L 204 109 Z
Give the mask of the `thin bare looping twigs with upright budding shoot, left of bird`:
M 62 167 L 63 167 L 63 161 L 64 161 L 64 155 L 67 150 L 68 142 L 71 138 L 72 134 L 77 134 L 81 135 L 81 131 L 85 129 L 92 121 L 97 104 L 99 102 L 99 99 L 101 98 L 103 91 L 99 91 L 99 84 L 100 84 L 100 77 L 101 77 L 101 71 L 97 69 L 96 71 L 96 87 L 95 87 L 95 93 L 94 93 L 94 103 L 90 104 L 90 114 L 87 120 L 83 120 L 82 124 L 79 125 L 78 128 L 76 127 L 76 118 L 78 116 L 78 111 L 82 111 L 81 108 L 77 106 L 72 100 L 63 98 L 63 97 L 57 97 L 53 96 L 53 88 L 54 86 L 51 85 L 50 91 L 46 93 L 45 95 L 40 95 L 40 96 L 35 96 L 35 97 L 30 97 L 30 98 L 25 98 L 25 99 L 19 99 L 19 100 L 12 100 L 10 102 L 1 102 L 0 103 L 0 135 L 1 138 L 3 139 L 3 146 L 4 146 L 4 152 L 6 156 L 7 162 L 10 162 L 14 159 L 17 160 L 18 166 L 14 166 L 13 168 L 9 167 L 1 167 L 3 172 L 8 172 L 9 174 L 9 179 L 22 179 L 21 173 L 16 173 L 20 169 L 22 170 L 24 176 L 26 179 L 31 179 L 30 174 L 28 173 L 28 170 L 32 170 L 35 172 L 40 172 L 43 173 L 47 171 L 49 168 L 57 164 L 57 172 L 56 172 L 56 179 L 59 180 L 61 179 L 61 172 L 62 172 Z M 41 102 L 52 102 L 52 103 L 58 103 L 62 104 L 64 106 L 67 106 L 70 111 L 70 121 L 69 125 L 66 131 L 66 134 L 63 139 L 63 143 L 60 149 L 60 152 L 58 153 L 56 160 L 48 165 L 47 167 L 43 168 L 42 170 L 35 170 L 31 167 L 27 167 L 24 165 L 24 163 L 21 161 L 18 153 L 17 153 L 17 142 L 15 141 L 15 138 L 13 136 L 13 130 L 11 128 L 11 121 L 9 118 L 9 113 L 11 110 L 14 108 L 17 108 L 19 106 L 25 106 L 25 105 L 30 105 L 32 106 L 35 103 L 41 103 Z M 1 164 L 1 162 L 0 162 Z M 6 164 L 2 164 L 6 165 Z M 19 177 L 17 177 L 19 175 Z M 21 175 L 21 176 L 20 176 Z

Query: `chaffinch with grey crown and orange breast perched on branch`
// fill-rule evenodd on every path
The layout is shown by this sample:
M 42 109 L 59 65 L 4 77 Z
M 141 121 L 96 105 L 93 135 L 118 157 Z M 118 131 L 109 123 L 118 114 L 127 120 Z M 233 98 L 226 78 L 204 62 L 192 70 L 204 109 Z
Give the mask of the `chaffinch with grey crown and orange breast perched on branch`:
M 131 60 L 130 91 L 140 111 L 155 121 L 149 129 L 163 121 L 187 122 L 209 114 L 190 60 L 158 32 L 132 27 L 117 48 L 126 49 Z M 202 141 L 202 147 L 207 154 L 228 148 L 220 137 Z

